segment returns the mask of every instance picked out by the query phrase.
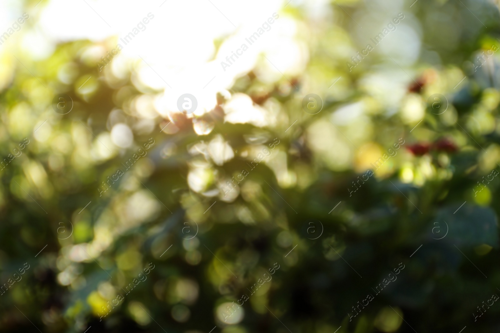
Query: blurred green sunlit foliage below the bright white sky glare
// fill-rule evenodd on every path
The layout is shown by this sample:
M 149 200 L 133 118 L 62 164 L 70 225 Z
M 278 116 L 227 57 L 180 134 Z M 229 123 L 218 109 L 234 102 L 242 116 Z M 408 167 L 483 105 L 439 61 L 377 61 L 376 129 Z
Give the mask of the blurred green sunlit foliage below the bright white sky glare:
M 405 3 L 421 28 L 417 60 L 403 69 L 377 51 L 349 71 L 365 44 L 354 20 L 378 5 L 332 1 L 319 22 L 287 6 L 305 70 L 272 83 L 251 71 L 199 116 L 160 116 L 163 92 L 140 84 L 136 62 L 99 71 L 106 44 L 2 60 L 12 75 L 0 92 L 1 283 L 30 268 L 0 297 L 0 331 L 498 330 L 498 305 L 471 316 L 500 287 L 500 181 L 483 182 L 500 161 L 500 57 L 477 58 L 500 46 L 498 9 Z M 52 107 L 61 93 L 73 102 L 64 115 Z M 307 93 L 321 112 L 304 112 Z M 428 101 L 436 93 L 445 112 Z M 245 96 L 264 125 L 224 121 Z

